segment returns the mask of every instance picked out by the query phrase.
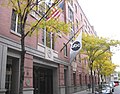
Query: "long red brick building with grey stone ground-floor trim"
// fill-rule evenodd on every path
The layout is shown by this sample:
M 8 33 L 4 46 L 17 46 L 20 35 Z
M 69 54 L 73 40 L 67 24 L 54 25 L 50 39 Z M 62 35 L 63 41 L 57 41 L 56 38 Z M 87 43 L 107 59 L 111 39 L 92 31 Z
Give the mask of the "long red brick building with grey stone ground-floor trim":
M 35 17 L 31 14 L 29 19 Z M 25 40 L 24 94 L 72 94 L 86 88 L 90 82 L 87 60 L 81 59 L 84 55 L 78 54 L 70 63 L 70 43 L 60 50 L 82 25 L 81 31 L 96 33 L 77 0 L 63 1 L 59 19 L 76 23 L 69 36 L 59 35 L 55 41 L 50 38 L 51 44 L 47 44 L 41 29 L 39 35 L 27 36 Z M 19 92 L 21 49 L 16 21 L 15 11 L 0 5 L 0 94 Z

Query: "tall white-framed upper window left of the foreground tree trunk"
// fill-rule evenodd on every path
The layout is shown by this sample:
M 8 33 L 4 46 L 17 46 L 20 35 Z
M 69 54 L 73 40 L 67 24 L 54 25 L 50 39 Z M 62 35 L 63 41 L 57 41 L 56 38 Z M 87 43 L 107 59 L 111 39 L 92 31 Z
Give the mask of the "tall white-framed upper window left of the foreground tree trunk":
M 14 9 L 12 10 L 11 30 L 14 33 L 21 34 L 20 19 L 18 17 L 17 12 Z

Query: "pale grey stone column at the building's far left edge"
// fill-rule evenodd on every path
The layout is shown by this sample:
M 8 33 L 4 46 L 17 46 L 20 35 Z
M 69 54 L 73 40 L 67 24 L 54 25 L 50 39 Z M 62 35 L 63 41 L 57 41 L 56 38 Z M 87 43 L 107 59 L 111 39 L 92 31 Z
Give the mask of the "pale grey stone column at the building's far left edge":
M 5 94 L 7 46 L 0 43 L 0 94 Z

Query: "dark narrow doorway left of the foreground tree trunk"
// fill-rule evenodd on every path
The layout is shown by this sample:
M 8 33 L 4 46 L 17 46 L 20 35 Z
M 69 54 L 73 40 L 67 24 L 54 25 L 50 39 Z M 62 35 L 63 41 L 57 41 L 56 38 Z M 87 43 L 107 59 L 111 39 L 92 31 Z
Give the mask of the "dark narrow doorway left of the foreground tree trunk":
M 18 94 L 19 90 L 19 59 L 7 56 L 5 94 Z

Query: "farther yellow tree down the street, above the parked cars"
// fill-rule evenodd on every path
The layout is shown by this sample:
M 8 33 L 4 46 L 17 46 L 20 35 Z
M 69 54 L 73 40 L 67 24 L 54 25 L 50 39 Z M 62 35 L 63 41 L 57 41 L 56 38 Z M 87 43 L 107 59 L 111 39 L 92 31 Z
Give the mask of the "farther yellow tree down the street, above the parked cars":
M 115 71 L 117 65 L 111 62 L 110 57 L 111 57 L 111 53 L 105 52 L 99 58 L 97 58 L 93 63 L 93 69 L 97 70 L 98 73 L 98 84 L 100 84 L 99 77 L 101 77 L 103 82 L 103 76 L 104 77 L 110 76 Z

